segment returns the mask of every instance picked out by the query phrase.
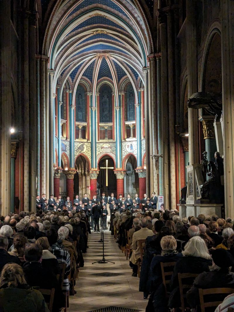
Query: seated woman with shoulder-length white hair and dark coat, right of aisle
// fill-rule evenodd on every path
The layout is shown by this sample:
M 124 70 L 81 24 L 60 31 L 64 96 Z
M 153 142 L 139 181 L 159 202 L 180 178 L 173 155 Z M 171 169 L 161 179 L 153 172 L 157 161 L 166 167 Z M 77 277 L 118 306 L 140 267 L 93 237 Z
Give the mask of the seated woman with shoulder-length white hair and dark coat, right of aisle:
M 190 238 L 182 251 L 183 257 L 177 261 L 170 282 L 172 290 L 169 298 L 169 308 L 181 306 L 179 295 L 178 273 L 208 272 L 212 265 L 212 259 L 207 249 L 205 241 L 200 236 Z

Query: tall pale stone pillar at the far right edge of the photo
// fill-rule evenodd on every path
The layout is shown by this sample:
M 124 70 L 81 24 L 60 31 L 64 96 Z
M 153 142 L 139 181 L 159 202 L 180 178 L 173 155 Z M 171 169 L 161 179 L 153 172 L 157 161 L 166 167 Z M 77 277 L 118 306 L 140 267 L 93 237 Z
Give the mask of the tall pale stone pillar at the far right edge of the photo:
M 224 147 L 224 191 L 226 217 L 234 218 L 234 2 L 222 0 L 221 46 L 222 46 L 222 103 L 223 103 L 223 147 Z

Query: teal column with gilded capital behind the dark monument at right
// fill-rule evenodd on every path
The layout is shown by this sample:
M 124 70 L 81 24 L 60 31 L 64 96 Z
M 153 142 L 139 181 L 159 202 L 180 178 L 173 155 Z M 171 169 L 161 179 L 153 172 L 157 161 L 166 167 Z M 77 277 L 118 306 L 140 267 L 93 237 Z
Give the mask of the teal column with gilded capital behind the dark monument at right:
M 214 153 L 217 151 L 215 133 L 214 133 L 214 116 L 201 116 L 199 120 L 202 122 L 202 130 L 205 140 L 205 150 L 207 152 L 207 160 L 215 161 Z

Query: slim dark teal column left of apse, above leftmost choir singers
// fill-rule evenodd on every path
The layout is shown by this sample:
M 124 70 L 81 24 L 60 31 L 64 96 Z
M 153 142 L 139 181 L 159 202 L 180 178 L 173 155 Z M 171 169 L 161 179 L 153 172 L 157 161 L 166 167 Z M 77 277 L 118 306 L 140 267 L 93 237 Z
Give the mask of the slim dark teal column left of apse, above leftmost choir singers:
M 40 195 L 40 59 L 36 59 L 36 194 Z M 44 154 L 44 153 L 43 153 Z M 43 168 L 43 167 L 42 167 Z M 44 167 L 45 168 L 45 167 Z

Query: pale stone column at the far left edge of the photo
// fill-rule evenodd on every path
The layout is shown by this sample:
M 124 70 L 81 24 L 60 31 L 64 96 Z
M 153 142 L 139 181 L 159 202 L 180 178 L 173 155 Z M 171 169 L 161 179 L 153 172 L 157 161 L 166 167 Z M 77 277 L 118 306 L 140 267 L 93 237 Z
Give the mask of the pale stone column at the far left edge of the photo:
M 1 77 L 1 129 L 0 129 L 0 213 L 10 212 L 11 174 L 11 15 L 8 0 L 1 2 L 0 10 L 0 77 Z

